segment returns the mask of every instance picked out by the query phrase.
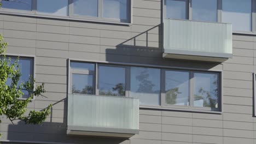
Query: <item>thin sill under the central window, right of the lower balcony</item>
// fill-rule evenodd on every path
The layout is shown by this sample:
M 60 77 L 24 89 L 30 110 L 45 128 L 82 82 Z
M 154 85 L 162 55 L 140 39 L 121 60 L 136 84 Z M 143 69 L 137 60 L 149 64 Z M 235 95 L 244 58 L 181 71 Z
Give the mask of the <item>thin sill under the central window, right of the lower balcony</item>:
M 207 111 L 207 110 L 197 110 L 197 109 L 182 109 L 173 107 L 160 107 L 160 106 L 143 106 L 140 105 L 139 109 L 154 109 L 154 110 L 170 110 L 170 111 L 182 111 L 182 112 L 199 112 L 199 113 L 212 113 L 222 115 L 222 111 Z

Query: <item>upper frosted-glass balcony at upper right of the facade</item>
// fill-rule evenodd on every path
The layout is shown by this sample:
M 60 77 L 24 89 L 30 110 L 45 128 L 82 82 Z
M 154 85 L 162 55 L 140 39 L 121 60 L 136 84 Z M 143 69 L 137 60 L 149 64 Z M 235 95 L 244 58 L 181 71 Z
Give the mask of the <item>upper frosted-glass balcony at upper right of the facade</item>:
M 232 25 L 165 19 L 162 57 L 224 62 L 232 58 Z

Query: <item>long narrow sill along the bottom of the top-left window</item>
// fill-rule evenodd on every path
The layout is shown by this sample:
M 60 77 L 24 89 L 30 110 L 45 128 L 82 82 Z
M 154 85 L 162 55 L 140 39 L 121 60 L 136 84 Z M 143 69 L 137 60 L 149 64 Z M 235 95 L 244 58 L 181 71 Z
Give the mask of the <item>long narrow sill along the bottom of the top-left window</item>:
M 0 10 L 0 14 L 15 15 L 15 16 L 28 16 L 28 17 L 42 17 L 42 18 L 48 18 L 48 19 L 59 19 L 59 20 L 69 20 L 69 21 L 109 23 L 109 24 L 124 25 L 124 26 L 130 26 L 132 24 L 131 22 L 117 22 L 117 21 L 95 20 L 95 19 L 85 19 L 85 18 L 83 19 L 83 18 L 77 18 L 77 17 L 65 17 L 65 16 L 54 16 L 54 15 L 19 13 L 18 11 L 3 11 L 3 10 Z

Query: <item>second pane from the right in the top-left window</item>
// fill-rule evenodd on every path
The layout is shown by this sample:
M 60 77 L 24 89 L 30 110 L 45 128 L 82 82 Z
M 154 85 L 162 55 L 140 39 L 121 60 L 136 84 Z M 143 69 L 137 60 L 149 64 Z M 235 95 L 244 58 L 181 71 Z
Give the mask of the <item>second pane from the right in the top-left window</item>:
M 98 16 L 97 0 L 73 0 L 73 14 L 82 16 Z

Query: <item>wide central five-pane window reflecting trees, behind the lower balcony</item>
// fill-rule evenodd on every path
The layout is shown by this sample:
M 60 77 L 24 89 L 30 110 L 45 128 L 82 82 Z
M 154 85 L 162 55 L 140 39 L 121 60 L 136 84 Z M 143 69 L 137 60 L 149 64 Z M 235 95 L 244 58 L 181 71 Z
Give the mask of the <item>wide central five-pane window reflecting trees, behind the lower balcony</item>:
M 146 107 L 221 110 L 218 72 L 82 62 L 71 62 L 70 71 L 70 93 L 139 98 Z

